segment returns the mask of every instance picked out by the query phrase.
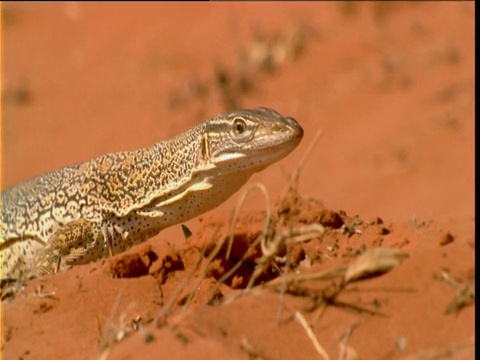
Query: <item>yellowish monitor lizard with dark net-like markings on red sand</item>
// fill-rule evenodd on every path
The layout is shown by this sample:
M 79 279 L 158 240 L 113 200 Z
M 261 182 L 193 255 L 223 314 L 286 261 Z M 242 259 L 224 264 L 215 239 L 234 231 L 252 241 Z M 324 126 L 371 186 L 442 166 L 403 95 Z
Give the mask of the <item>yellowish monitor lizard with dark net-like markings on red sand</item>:
M 221 204 L 302 136 L 294 119 L 274 110 L 234 111 L 153 146 L 5 189 L 1 277 L 53 273 L 122 252 Z

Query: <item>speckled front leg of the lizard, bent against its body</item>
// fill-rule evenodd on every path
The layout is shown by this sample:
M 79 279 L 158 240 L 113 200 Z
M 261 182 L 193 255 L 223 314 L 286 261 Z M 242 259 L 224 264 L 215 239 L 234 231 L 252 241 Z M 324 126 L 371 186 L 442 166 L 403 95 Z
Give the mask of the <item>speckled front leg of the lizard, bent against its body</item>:
M 52 274 L 72 265 L 101 258 L 106 241 L 100 226 L 85 219 L 72 221 L 49 238 L 34 258 L 34 275 Z

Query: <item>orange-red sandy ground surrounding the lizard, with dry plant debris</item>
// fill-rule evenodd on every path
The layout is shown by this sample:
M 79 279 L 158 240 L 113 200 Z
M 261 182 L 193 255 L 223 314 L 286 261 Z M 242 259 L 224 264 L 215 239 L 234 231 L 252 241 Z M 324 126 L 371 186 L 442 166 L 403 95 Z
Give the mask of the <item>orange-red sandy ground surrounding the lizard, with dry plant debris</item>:
M 240 191 L 5 296 L 3 359 L 474 358 L 473 2 L 4 3 L 2 35 L 3 187 L 232 108 L 305 130 L 249 182 L 276 256 L 240 261 L 260 192 L 215 254 Z

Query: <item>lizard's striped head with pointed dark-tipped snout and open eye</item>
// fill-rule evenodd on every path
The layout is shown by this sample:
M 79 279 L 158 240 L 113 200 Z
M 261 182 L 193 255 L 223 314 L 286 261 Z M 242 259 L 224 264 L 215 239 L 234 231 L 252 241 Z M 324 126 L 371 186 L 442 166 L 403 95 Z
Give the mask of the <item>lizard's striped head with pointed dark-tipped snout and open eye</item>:
M 298 122 L 275 110 L 238 110 L 207 121 L 202 157 L 222 172 L 253 173 L 288 155 L 302 137 Z

